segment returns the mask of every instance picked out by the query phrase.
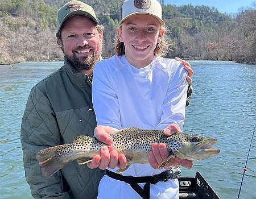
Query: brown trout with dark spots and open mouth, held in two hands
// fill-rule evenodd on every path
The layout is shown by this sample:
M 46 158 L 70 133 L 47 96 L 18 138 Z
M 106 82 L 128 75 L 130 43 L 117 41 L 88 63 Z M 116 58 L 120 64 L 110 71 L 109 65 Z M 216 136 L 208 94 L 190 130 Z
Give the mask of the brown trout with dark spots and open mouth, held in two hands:
M 111 134 L 112 145 L 118 153 L 126 156 L 127 167 L 119 169 L 125 171 L 131 163 L 148 163 L 148 152 L 152 143 L 166 143 L 169 156 L 159 165 L 164 168 L 171 158 L 179 157 L 187 160 L 203 160 L 220 152 L 220 149 L 211 149 L 217 143 L 214 138 L 200 135 L 177 132 L 171 136 L 165 136 L 163 130 L 142 130 L 140 128 L 123 128 Z M 90 136 L 79 135 L 72 144 L 63 144 L 49 147 L 36 152 L 42 175 L 49 178 L 53 173 L 63 168 L 73 160 L 79 164 L 92 161 L 94 155 L 100 155 L 100 148 L 106 144 Z

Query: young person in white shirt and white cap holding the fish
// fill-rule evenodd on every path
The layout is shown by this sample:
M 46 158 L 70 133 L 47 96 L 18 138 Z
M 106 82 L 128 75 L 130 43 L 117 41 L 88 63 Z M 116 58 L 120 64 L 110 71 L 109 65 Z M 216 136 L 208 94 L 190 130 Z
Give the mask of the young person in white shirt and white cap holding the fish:
M 123 3 L 117 28 L 117 55 L 98 62 L 93 72 L 97 125 L 112 129 L 183 129 L 187 72 L 180 61 L 162 57 L 168 51 L 164 31 L 158 1 L 127 0 Z M 149 159 L 162 155 L 153 148 Z M 159 164 L 163 159 L 154 161 Z M 176 178 L 179 168 L 156 169 L 152 164 L 136 163 L 121 174 L 115 173 L 118 168 L 110 168 L 100 182 L 98 198 L 179 198 Z M 154 175 L 160 179 L 155 184 L 146 181 L 137 184 L 136 178 L 133 183 L 125 183 L 126 176 Z

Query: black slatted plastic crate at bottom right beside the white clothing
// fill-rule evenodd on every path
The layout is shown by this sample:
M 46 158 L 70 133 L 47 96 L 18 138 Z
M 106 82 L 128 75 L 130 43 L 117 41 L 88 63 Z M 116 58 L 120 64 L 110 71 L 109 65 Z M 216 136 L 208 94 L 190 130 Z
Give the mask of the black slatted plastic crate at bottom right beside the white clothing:
M 220 199 L 204 177 L 196 172 L 195 177 L 179 177 L 179 198 Z

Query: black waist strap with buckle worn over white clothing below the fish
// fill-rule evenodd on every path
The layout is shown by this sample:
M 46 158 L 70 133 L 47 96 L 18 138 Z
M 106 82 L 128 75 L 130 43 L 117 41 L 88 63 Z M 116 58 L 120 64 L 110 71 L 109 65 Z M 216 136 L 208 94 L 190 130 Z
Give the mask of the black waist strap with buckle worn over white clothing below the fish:
M 150 199 L 150 184 L 156 184 L 159 181 L 166 182 L 169 179 L 175 179 L 177 177 L 180 177 L 181 172 L 180 171 L 164 171 L 162 173 L 159 173 L 154 176 L 142 176 L 142 177 L 134 177 L 134 176 L 123 176 L 121 174 L 106 170 L 106 175 L 109 177 L 112 177 L 115 180 L 123 181 L 125 183 L 130 184 L 131 188 L 135 190 L 141 196 L 143 199 Z M 143 189 L 141 186 L 139 186 L 138 183 L 146 183 L 143 186 Z

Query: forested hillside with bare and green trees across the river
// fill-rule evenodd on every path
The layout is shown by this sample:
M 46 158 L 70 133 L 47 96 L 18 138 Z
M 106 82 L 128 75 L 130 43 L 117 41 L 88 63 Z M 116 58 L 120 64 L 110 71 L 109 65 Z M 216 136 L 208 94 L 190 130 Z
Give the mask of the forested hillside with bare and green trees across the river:
M 55 32 L 57 9 L 66 2 L 1 0 L 0 64 L 63 59 Z M 84 2 L 94 7 L 104 25 L 103 56 L 112 56 L 123 1 Z M 167 57 L 256 63 L 255 6 L 230 16 L 208 6 L 163 5 L 163 18 L 172 40 Z

